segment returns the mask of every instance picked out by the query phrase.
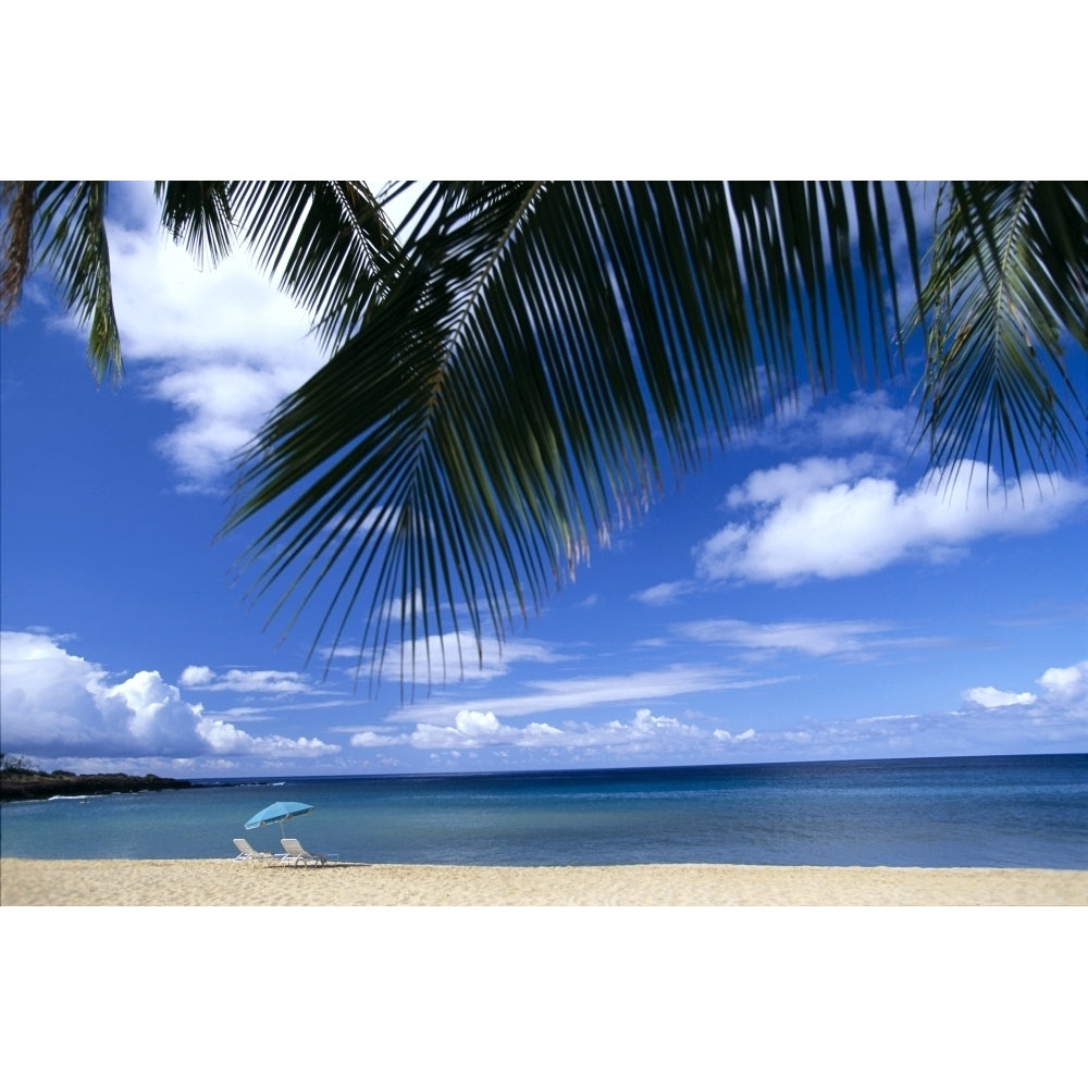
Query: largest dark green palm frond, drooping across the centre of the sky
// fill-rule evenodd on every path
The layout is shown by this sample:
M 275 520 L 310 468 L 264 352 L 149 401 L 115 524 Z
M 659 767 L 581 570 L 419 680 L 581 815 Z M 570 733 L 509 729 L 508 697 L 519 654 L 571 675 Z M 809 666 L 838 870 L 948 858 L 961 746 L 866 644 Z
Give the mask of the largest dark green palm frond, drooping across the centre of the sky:
M 460 610 L 479 647 L 572 577 L 662 450 L 691 468 L 827 387 L 840 322 L 886 354 L 899 323 L 879 186 L 434 183 L 408 219 L 358 330 L 248 450 L 226 531 L 277 508 L 254 592 L 280 586 L 289 626 L 324 586 L 314 645 L 359 606 L 375 668 L 395 631 L 409 679 Z

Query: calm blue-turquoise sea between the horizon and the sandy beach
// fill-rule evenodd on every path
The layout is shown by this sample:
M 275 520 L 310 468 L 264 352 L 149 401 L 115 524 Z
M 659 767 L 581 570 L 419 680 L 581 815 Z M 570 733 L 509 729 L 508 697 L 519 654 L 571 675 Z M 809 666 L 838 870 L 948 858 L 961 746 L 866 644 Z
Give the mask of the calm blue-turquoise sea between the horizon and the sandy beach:
M 273 801 L 342 861 L 716 862 L 1088 869 L 1088 754 L 500 775 L 222 780 L 0 806 L 8 857 L 222 857 Z

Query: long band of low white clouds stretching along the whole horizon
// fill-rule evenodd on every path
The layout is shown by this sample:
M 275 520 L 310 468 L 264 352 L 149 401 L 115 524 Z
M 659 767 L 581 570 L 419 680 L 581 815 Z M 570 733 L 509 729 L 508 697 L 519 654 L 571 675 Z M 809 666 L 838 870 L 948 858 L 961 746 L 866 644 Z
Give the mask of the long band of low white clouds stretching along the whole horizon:
M 795 640 L 796 641 L 796 640 Z M 185 701 L 178 688 L 154 670 L 111 677 L 99 665 L 70 653 L 63 640 L 40 632 L 0 633 L 0 668 L 4 683 L 0 714 L 4 751 L 35 762 L 64 761 L 70 769 L 124 767 L 145 772 L 183 768 L 209 774 L 230 768 L 246 772 L 255 766 L 276 766 L 299 771 L 344 772 L 339 744 L 318 737 L 272 733 L 254 737 L 221 716 L 208 714 L 199 703 Z M 804 645 L 804 639 L 800 640 Z M 817 646 L 817 648 L 819 648 Z M 201 672 L 200 676 L 203 676 Z M 556 705 L 580 705 L 593 683 L 615 694 L 625 687 L 631 698 L 632 678 L 582 678 L 565 692 L 555 681 Z M 648 679 L 645 675 L 643 679 Z M 470 706 L 401 708 L 388 715 L 411 721 L 364 728 L 336 727 L 348 733 L 348 749 L 357 752 L 394 750 L 428 752 L 432 758 L 487 750 L 519 765 L 517 753 L 536 753 L 546 766 L 605 766 L 625 761 L 631 765 L 672 762 L 714 763 L 721 759 L 779 762 L 833 759 L 869 755 L 930 754 L 937 746 L 947 754 L 986 754 L 996 742 L 1027 738 L 1028 750 L 1078 751 L 1088 745 L 1088 659 L 1050 667 L 1039 676 L 1036 690 L 1007 691 L 996 684 L 977 685 L 962 693 L 959 709 L 900 714 L 876 718 L 819 721 L 804 718 L 792 728 L 765 730 L 758 722 L 721 718 L 685 719 L 652 709 L 652 698 L 667 696 L 677 687 L 667 677 L 656 695 L 650 693 L 639 709 L 622 717 L 597 720 L 548 721 L 533 715 L 528 722 L 509 720 L 530 713 L 521 698 L 494 698 Z M 695 676 L 688 676 L 691 682 Z M 720 678 L 719 678 L 720 679 Z M 758 681 L 756 681 L 757 683 Z M 733 687 L 745 687 L 735 681 Z M 680 683 L 680 689 L 684 683 Z M 646 696 L 648 688 L 639 692 Z M 569 694 L 569 698 L 567 695 Z M 535 696 L 527 696 L 532 700 Z M 71 765 L 75 764 L 75 767 Z M 381 756 L 378 764 L 396 770 L 399 758 Z M 368 761 L 367 766 L 378 764 Z M 312 769 L 311 769 L 312 768 Z

